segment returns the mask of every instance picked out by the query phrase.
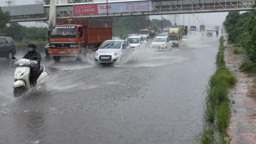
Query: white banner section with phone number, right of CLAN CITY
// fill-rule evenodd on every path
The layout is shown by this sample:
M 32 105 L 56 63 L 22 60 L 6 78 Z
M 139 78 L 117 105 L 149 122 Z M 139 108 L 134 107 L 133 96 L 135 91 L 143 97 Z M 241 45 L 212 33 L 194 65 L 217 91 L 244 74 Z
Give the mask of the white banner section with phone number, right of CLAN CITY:
M 127 2 L 124 3 L 124 12 L 152 11 L 152 2 Z

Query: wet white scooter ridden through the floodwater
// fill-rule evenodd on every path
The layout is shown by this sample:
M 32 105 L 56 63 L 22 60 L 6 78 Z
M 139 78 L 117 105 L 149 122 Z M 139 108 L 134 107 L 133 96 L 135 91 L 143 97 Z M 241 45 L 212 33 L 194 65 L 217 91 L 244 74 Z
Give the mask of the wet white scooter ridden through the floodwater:
M 15 57 L 12 57 L 15 60 Z M 17 60 L 17 59 L 16 59 Z M 17 66 L 14 72 L 14 84 L 13 84 L 13 95 L 14 97 L 21 96 L 27 90 L 32 88 L 29 81 L 30 67 L 38 67 L 37 61 L 29 59 L 20 59 L 14 63 L 14 66 Z M 40 70 L 38 71 L 37 84 L 35 88 L 40 87 L 45 84 L 46 79 L 48 78 L 48 72 L 45 70 L 45 66 L 41 65 Z

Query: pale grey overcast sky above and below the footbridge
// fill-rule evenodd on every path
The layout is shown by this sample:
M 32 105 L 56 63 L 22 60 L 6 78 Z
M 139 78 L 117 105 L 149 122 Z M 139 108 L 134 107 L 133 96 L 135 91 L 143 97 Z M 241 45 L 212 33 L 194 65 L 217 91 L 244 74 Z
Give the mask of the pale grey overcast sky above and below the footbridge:
M 8 0 L 0 0 L 0 6 L 8 6 L 8 4 L 5 2 Z M 27 5 L 27 4 L 35 4 L 36 0 L 15 0 L 16 5 Z M 94 2 L 99 2 L 103 0 L 94 0 Z M 109 1 L 118 1 L 118 0 L 109 0 Z M 214 26 L 222 26 L 223 21 L 226 18 L 226 15 L 228 12 L 219 12 L 219 13 L 199 13 L 190 14 L 190 25 L 197 25 L 197 17 L 198 17 L 198 25 L 201 23 L 205 24 L 207 28 L 212 28 Z M 183 25 L 183 14 L 179 15 L 163 15 L 163 18 L 170 20 L 173 24 L 176 17 L 176 23 L 177 25 Z M 193 20 L 194 18 L 194 20 Z M 150 16 L 150 19 L 161 19 L 161 15 L 158 16 Z M 202 21 L 202 22 L 199 22 Z M 41 22 L 21 22 L 20 24 L 25 26 L 47 26 L 44 23 Z M 189 14 L 184 14 L 184 25 L 189 25 Z

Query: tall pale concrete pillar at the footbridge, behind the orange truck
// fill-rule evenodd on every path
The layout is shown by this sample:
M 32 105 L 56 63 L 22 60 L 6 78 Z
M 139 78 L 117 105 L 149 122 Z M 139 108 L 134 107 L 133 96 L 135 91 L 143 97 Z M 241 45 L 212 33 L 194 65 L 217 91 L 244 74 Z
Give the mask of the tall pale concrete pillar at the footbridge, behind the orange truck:
M 56 8 L 57 0 L 50 0 L 50 13 L 49 13 L 49 29 L 51 30 L 52 27 L 56 24 Z

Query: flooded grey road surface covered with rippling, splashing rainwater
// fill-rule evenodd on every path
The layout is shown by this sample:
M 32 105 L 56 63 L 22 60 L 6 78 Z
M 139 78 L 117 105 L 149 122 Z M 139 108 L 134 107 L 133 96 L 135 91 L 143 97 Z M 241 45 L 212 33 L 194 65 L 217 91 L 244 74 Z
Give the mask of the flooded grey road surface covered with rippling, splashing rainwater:
M 0 59 L 0 143 L 193 143 L 219 37 L 169 51 L 134 52 L 124 63 L 54 62 L 45 88 L 13 97 L 13 62 Z M 22 58 L 19 52 L 16 58 Z

